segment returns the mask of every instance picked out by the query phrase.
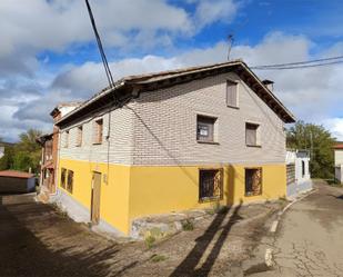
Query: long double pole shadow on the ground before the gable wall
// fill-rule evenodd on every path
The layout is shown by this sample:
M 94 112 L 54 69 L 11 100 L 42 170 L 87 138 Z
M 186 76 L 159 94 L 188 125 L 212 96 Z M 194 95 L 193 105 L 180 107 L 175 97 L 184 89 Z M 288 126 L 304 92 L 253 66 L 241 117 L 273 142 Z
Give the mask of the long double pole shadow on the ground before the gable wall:
M 181 264 L 174 269 L 170 277 L 180 276 L 208 276 L 220 255 L 220 251 L 230 234 L 232 226 L 241 220 L 239 210 L 242 206 L 242 201 L 234 208 L 228 208 L 220 211 L 209 228 L 203 233 L 202 236 L 196 238 L 196 244 L 188 256 L 181 261 Z M 231 211 L 231 212 L 230 212 Z M 228 219 L 229 218 L 229 219 Z M 228 220 L 226 222 L 225 219 Z M 214 237 L 216 237 L 214 239 Z M 214 241 L 215 240 L 215 241 Z M 200 260 L 204 258 L 206 249 L 213 243 L 213 247 L 210 254 L 206 256 L 201 267 L 196 268 Z

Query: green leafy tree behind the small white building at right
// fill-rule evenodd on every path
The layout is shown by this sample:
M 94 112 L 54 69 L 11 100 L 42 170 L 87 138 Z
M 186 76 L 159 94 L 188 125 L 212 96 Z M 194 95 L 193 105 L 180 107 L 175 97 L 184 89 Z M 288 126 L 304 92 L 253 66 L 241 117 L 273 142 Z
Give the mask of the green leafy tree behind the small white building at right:
M 314 178 L 333 178 L 335 139 L 323 126 L 297 121 L 286 131 L 287 148 L 310 151 L 310 171 Z

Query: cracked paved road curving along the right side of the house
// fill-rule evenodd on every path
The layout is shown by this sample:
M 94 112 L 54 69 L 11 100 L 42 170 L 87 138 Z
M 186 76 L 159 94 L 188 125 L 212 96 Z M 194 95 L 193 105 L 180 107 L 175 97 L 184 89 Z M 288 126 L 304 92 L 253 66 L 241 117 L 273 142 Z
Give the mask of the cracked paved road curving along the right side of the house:
M 343 276 L 343 189 L 315 187 L 283 215 L 271 243 L 275 270 L 251 276 Z

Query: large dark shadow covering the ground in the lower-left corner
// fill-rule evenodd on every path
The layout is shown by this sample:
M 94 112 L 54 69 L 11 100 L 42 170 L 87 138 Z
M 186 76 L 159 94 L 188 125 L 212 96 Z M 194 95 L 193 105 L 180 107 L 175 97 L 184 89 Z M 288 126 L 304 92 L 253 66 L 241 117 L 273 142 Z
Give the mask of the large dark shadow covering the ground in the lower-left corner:
M 117 276 L 137 264 L 128 261 L 117 273 L 112 267 L 115 259 L 108 263 L 119 254 L 115 244 L 80 248 L 83 244 L 80 226 L 68 218 L 59 219 L 52 207 L 6 201 L 0 196 L 0 276 Z M 41 222 L 36 225 L 33 220 L 39 217 Z M 53 225 L 59 225 L 57 230 L 61 231 L 36 231 L 39 228 L 49 231 Z M 85 244 L 87 239 L 84 237 Z

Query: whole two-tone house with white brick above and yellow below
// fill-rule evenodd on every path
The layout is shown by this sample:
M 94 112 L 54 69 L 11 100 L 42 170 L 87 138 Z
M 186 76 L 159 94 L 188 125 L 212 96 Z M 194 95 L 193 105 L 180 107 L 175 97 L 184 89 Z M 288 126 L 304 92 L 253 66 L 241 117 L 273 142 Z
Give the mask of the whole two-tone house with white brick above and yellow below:
M 240 60 L 123 78 L 56 122 L 58 201 L 130 235 L 147 215 L 285 197 L 287 122 Z

